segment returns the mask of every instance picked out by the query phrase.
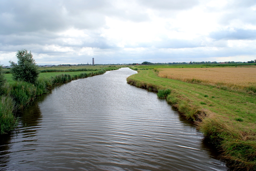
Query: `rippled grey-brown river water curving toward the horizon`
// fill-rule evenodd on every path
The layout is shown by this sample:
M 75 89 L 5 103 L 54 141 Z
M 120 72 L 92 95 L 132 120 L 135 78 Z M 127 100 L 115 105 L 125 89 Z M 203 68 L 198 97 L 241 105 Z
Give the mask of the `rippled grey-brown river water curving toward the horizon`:
M 203 135 L 129 68 L 58 86 L 0 141 L 0 170 L 225 171 Z

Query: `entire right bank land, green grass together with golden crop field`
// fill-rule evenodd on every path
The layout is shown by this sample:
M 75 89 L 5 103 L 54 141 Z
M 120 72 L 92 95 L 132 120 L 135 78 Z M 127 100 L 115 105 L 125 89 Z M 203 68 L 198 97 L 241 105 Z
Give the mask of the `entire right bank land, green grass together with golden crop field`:
M 174 68 L 175 67 L 175 68 Z M 256 68 L 136 66 L 127 82 L 158 96 L 192 120 L 234 170 L 256 170 Z

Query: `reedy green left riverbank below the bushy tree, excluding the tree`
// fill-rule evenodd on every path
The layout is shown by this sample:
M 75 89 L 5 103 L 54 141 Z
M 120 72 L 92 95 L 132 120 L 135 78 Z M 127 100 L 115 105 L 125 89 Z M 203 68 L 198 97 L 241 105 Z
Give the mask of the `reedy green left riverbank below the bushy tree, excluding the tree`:
M 0 134 L 6 134 L 17 128 L 18 119 L 15 111 L 25 108 L 38 96 L 46 94 L 57 84 L 68 83 L 72 80 L 104 74 L 106 71 L 119 68 L 102 68 L 96 71 L 81 71 L 79 73 L 41 73 L 35 84 L 13 81 L 6 83 L 0 97 Z M 9 76 L 9 75 L 8 75 Z M 8 80 L 8 79 L 7 79 Z

